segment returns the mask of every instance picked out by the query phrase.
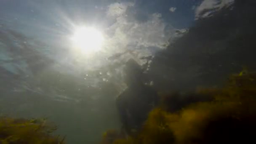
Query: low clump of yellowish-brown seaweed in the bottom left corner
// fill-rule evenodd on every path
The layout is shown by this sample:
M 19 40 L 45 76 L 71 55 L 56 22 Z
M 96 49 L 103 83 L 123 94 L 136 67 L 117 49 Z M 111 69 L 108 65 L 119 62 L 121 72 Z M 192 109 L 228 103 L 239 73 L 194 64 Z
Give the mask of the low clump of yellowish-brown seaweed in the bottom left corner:
M 0 117 L 0 144 L 64 144 L 56 129 L 45 119 Z

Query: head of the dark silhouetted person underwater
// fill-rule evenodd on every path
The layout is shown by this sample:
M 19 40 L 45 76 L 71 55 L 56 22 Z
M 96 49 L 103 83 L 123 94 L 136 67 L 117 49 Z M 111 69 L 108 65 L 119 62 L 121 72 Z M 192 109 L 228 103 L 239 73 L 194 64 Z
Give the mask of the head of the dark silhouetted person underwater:
M 138 85 L 141 83 L 142 69 L 141 66 L 134 61 L 133 59 L 129 59 L 124 67 L 124 81 L 126 85 Z

